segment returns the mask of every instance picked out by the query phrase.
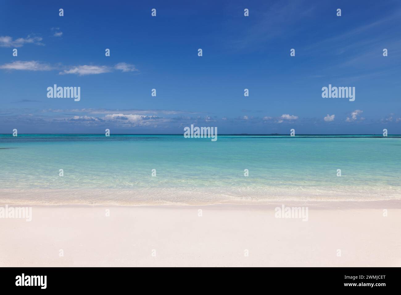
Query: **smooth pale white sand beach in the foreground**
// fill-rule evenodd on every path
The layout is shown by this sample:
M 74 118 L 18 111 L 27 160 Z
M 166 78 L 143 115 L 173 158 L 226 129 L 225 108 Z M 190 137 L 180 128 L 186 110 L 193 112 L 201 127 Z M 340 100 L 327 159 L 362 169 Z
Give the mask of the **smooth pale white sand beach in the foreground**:
M 0 219 L 0 266 L 401 266 L 400 201 L 285 204 L 308 221 L 277 206 L 33 205 Z

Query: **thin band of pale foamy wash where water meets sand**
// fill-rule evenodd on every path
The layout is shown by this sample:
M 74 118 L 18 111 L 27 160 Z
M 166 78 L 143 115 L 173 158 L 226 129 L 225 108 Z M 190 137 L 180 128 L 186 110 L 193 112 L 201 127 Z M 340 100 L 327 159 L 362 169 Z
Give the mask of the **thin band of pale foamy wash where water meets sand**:
M 0 190 L 0 204 L 109 204 L 109 205 L 207 205 L 270 204 L 282 201 L 379 201 L 401 199 L 398 188 L 329 190 L 322 188 L 149 188 L 138 190 L 32 189 Z

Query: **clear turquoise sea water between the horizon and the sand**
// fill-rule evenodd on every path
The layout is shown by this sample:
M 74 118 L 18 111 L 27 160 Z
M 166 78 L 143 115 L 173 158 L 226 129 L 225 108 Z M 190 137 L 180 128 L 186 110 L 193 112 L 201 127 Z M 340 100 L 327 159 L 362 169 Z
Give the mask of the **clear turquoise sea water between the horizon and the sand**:
M 401 199 L 401 135 L 0 135 L 0 163 L 0 203 Z

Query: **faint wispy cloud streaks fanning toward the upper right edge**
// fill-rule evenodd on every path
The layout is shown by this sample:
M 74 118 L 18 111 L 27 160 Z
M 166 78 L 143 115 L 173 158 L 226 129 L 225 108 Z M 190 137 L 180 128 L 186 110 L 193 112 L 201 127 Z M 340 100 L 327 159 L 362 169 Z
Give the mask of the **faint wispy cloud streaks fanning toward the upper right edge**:
M 391 76 L 393 72 L 397 75 L 400 55 L 395 51 L 399 51 L 401 42 L 388 27 L 399 26 L 400 16 L 401 10 L 394 9 L 392 14 L 378 20 L 367 17 L 365 24 L 350 27 L 343 33 L 310 43 L 304 46 L 302 51 L 310 57 L 316 56 L 317 53 L 332 55 L 331 61 L 321 70 L 332 77 L 335 75 L 330 73 L 341 71 L 339 81 L 350 83 L 378 76 Z M 337 45 L 333 48 L 332 44 Z M 389 48 L 389 51 L 391 48 L 392 65 L 383 62 L 383 48 Z

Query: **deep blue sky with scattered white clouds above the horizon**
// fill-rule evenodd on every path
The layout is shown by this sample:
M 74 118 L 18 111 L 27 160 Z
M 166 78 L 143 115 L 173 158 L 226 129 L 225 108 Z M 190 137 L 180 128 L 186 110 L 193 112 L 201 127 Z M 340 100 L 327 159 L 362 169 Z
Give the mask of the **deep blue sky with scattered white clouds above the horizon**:
M 126 2 L 1 2 L 0 133 L 401 133 L 399 1 Z

